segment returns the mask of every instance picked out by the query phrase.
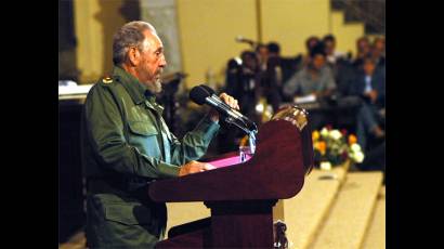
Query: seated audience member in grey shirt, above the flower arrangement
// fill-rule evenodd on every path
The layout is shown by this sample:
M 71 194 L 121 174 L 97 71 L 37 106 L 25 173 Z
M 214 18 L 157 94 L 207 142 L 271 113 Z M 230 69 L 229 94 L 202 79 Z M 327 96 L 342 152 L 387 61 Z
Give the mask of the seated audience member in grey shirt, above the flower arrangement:
M 313 95 L 318 99 L 329 96 L 336 89 L 331 69 L 326 65 L 326 54 L 322 42 L 312 49 L 310 56 L 310 63 L 284 84 L 286 96 L 293 99 Z

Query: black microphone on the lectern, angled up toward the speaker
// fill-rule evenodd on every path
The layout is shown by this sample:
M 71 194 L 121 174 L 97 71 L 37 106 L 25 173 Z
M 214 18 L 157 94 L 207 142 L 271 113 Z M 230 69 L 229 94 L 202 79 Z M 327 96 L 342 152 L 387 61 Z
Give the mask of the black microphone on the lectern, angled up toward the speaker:
M 214 90 L 208 86 L 200 84 L 194 87 L 190 92 L 190 99 L 198 105 L 207 104 L 226 117 L 228 123 L 233 123 L 247 133 L 258 130 L 254 122 L 249 120 L 238 110 L 232 108 L 214 94 Z

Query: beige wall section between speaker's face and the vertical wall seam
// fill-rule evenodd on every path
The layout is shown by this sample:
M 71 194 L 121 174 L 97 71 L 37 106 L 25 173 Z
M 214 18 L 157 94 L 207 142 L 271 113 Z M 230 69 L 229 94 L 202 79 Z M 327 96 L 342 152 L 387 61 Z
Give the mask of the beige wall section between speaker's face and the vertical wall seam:
M 206 81 L 211 69 L 224 78 L 226 62 L 249 47 L 238 35 L 257 39 L 256 0 L 177 0 L 182 67 L 187 88 Z

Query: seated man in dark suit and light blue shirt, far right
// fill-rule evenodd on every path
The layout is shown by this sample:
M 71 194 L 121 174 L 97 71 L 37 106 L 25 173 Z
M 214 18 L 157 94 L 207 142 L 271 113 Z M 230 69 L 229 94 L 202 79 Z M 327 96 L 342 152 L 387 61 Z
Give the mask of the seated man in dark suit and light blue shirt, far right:
M 356 135 L 357 142 L 366 149 L 368 137 L 384 137 L 381 122 L 386 108 L 386 79 L 376 70 L 376 62 L 371 57 L 364 58 L 362 70 L 350 86 L 350 94 L 364 100 L 357 114 Z

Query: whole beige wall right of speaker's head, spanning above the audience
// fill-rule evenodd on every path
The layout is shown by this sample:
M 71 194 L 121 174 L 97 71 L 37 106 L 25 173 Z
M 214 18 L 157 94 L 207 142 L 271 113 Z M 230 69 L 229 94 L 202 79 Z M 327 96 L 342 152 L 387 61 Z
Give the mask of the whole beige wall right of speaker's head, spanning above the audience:
M 178 0 L 178 22 L 188 88 L 205 82 L 209 68 L 223 83 L 226 61 L 249 48 L 234 42 L 237 35 L 277 41 L 284 56 L 305 53 L 306 38 L 330 32 L 338 51 L 354 53 L 364 35 L 363 24 L 344 24 L 342 13 L 330 11 L 330 0 Z

